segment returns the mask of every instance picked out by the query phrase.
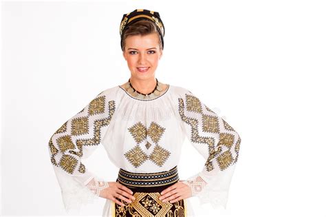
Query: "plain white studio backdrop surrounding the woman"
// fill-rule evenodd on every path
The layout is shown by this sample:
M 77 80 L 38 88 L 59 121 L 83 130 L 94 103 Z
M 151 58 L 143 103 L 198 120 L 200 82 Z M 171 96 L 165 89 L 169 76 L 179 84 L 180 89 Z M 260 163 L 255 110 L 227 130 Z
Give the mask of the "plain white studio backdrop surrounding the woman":
M 227 209 L 203 216 L 326 216 L 326 7 L 314 0 L 1 1 L 1 216 L 65 215 L 48 141 L 128 81 L 119 27 L 135 9 L 160 12 L 166 28 L 156 78 L 241 136 Z M 204 162 L 185 141 L 180 178 Z M 118 175 L 102 146 L 87 167 Z M 100 216 L 104 203 L 82 213 Z

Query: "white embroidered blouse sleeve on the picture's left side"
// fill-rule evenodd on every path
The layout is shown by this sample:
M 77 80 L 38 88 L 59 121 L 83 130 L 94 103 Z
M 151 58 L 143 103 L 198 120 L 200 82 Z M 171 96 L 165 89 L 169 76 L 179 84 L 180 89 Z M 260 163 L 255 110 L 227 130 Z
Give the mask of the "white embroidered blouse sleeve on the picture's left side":
M 94 203 L 101 190 L 109 186 L 90 172 L 82 160 L 89 157 L 102 141 L 115 109 L 115 101 L 102 91 L 50 138 L 50 161 L 66 211 L 80 210 L 81 206 Z

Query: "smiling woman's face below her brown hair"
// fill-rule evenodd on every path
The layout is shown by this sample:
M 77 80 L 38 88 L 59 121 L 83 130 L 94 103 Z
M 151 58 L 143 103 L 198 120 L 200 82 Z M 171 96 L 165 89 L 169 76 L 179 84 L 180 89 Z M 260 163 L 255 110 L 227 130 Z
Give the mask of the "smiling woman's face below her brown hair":
M 133 79 L 153 79 L 162 56 L 157 33 L 134 35 L 125 39 L 123 56 Z

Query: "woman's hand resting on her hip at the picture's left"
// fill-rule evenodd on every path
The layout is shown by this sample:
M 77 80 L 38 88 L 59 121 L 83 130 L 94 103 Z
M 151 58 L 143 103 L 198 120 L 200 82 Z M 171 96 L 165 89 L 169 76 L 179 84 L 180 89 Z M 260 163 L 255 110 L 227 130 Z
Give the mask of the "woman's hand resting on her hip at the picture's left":
M 107 198 L 112 200 L 113 202 L 117 203 L 120 206 L 124 206 L 122 202 L 120 202 L 117 198 L 126 201 L 127 203 L 131 203 L 131 200 L 135 200 L 133 196 L 133 192 L 131 189 L 121 185 L 118 182 L 107 182 L 109 187 L 102 189 L 100 192 L 101 198 Z

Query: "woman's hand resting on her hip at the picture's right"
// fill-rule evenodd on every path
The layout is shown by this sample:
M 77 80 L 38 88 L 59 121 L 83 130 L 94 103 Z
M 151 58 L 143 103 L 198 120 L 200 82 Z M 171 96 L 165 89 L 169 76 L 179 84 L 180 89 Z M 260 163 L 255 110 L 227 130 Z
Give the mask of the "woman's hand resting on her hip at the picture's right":
M 169 201 L 175 203 L 178 200 L 191 197 L 191 187 L 184 184 L 182 181 L 178 181 L 174 185 L 171 185 L 161 192 L 160 200 L 163 202 Z

